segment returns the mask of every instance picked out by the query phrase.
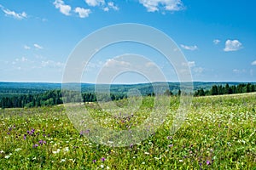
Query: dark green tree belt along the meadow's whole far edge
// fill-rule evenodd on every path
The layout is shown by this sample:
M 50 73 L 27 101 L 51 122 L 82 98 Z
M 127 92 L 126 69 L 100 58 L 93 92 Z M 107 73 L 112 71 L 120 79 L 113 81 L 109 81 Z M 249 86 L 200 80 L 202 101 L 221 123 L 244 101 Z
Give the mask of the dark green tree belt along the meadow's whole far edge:
M 212 85 L 210 89 L 197 89 L 194 96 L 206 96 L 206 95 L 221 95 L 221 94 L 242 94 L 250 93 L 256 91 L 256 84 L 253 83 L 241 83 L 238 85 L 229 85 L 228 83 L 223 85 Z M 61 105 L 63 100 L 65 102 L 95 102 L 95 101 L 109 101 L 109 100 L 119 100 L 127 98 L 125 93 L 115 93 L 110 94 L 108 97 L 107 94 L 96 95 L 94 93 L 82 93 L 82 97 L 79 95 L 70 96 L 72 93 L 64 92 L 63 96 L 69 96 L 69 98 L 62 98 L 62 92 L 60 89 L 49 90 L 40 94 L 16 94 L 10 95 L 7 94 L 0 98 L 0 107 L 4 108 L 22 108 L 22 107 L 40 107 L 48 105 Z M 69 95 L 69 94 L 70 95 Z M 173 93 L 171 90 L 166 90 L 165 95 L 180 95 L 181 91 L 178 90 L 176 93 Z M 145 94 L 144 94 L 145 95 Z M 148 96 L 154 96 L 154 93 L 146 94 Z

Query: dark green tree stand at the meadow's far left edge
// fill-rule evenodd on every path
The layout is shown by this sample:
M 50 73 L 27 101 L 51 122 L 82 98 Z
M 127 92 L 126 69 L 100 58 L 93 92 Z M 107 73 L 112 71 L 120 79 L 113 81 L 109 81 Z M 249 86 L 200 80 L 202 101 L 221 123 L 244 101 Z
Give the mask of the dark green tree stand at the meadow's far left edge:
M 43 94 L 18 94 L 0 99 L 0 108 L 40 107 L 70 102 L 110 101 L 127 98 L 125 94 L 77 94 L 72 91 L 49 90 Z

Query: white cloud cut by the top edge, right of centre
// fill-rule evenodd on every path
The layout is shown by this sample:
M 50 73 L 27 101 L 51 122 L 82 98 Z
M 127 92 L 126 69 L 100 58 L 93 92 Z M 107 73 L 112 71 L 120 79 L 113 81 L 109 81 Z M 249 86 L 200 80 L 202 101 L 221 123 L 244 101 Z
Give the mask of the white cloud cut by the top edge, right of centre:
M 148 12 L 159 11 L 160 8 L 166 11 L 179 11 L 183 9 L 181 0 L 139 0 Z

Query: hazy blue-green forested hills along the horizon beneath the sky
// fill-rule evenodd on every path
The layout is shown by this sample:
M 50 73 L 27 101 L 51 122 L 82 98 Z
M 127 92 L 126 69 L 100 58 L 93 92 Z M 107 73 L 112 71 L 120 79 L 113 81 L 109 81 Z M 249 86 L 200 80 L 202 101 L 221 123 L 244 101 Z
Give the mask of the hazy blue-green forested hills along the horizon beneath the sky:
M 161 86 L 164 82 L 154 82 L 154 85 Z M 194 90 L 212 88 L 213 85 L 222 85 L 226 83 L 231 85 L 238 85 L 246 82 L 193 82 Z M 256 82 L 252 82 L 256 83 Z M 168 82 L 170 91 L 177 94 L 180 88 L 179 82 Z M 109 85 L 102 84 L 101 88 L 108 88 Z M 141 94 L 151 94 L 154 92 L 152 83 L 138 83 L 138 84 L 112 84 L 110 86 L 111 93 L 127 93 L 130 89 L 136 88 Z M 49 90 L 61 89 L 61 83 L 51 82 L 0 82 L 0 98 L 16 94 L 41 94 Z M 81 90 L 83 93 L 94 93 L 95 84 L 82 83 Z

